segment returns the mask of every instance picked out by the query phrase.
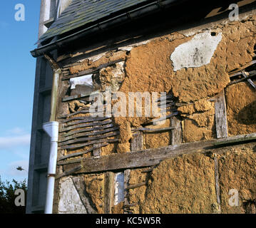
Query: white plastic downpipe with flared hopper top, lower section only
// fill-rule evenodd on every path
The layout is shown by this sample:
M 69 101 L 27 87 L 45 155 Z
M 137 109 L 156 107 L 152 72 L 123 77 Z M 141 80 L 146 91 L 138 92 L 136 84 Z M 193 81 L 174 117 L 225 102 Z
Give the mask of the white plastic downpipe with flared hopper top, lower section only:
M 47 175 L 46 206 L 44 209 L 44 213 L 52 214 L 54 183 L 55 183 L 57 152 L 58 152 L 58 122 L 52 121 L 48 123 L 43 123 L 43 130 L 51 138 L 51 149 L 50 149 L 48 175 Z

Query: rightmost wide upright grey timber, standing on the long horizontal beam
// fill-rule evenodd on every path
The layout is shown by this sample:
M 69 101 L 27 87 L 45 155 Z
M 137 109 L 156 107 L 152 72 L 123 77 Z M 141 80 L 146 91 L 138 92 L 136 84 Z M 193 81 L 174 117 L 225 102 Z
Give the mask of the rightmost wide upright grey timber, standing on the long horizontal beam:
M 225 90 L 220 92 L 215 100 L 215 122 L 217 138 L 227 137 L 227 108 Z

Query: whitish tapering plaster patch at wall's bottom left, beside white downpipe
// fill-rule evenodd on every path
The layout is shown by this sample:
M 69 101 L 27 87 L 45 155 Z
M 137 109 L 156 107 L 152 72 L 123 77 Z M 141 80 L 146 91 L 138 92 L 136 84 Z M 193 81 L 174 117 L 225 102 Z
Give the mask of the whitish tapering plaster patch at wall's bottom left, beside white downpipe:
M 59 196 L 59 214 L 87 214 L 86 208 L 83 206 L 71 178 L 64 179 L 63 182 L 60 183 Z

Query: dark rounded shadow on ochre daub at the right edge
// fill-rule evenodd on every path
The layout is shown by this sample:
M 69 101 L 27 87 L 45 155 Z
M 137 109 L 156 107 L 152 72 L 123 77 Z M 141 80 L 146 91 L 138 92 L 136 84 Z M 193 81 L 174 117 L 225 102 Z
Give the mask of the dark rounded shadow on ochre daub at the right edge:
M 256 124 L 256 100 L 242 108 L 236 115 L 238 123 L 245 125 Z

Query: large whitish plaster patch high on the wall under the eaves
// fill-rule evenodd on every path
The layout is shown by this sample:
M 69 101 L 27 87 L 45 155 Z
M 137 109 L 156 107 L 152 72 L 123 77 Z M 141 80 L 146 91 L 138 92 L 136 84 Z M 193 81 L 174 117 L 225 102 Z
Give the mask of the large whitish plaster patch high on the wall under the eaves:
M 173 71 L 200 67 L 210 63 L 221 39 L 222 33 L 212 36 L 210 31 L 206 31 L 195 35 L 190 41 L 180 44 L 170 56 L 170 60 L 173 61 Z

